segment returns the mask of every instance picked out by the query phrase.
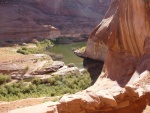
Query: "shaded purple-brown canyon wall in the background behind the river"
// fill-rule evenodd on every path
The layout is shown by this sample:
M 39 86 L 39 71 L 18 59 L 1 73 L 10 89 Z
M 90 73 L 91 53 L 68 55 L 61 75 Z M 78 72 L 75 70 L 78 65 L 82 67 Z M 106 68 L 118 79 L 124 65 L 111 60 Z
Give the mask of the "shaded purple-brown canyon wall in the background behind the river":
M 1 0 L 1 42 L 90 34 L 111 0 Z

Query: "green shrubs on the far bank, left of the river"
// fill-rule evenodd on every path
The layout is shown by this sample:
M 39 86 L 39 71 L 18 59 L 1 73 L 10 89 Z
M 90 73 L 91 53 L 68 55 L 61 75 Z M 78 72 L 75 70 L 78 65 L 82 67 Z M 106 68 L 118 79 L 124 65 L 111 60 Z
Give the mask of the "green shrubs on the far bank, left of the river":
M 53 44 L 50 40 L 44 40 L 42 42 L 36 43 L 36 48 L 27 48 L 27 47 L 21 47 L 20 49 L 17 50 L 17 53 L 21 53 L 24 55 L 27 54 L 38 54 L 38 53 L 43 53 L 46 51 L 48 47 L 51 47 Z

